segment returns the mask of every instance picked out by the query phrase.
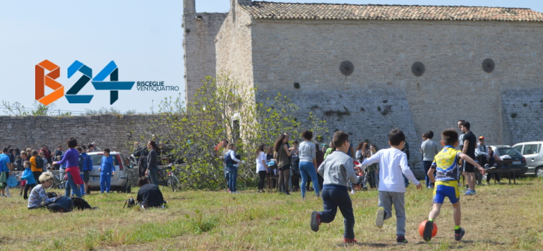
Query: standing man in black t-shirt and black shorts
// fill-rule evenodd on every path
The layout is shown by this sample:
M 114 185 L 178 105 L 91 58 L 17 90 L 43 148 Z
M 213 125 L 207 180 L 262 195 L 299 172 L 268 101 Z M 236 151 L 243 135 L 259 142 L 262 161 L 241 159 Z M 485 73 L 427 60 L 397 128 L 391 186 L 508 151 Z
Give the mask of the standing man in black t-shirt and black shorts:
M 462 153 L 468 155 L 470 158 L 475 159 L 475 148 L 477 146 L 477 138 L 475 134 L 470 131 L 470 123 L 468 121 L 462 122 L 462 132 L 464 133 L 464 147 Z M 468 183 L 468 191 L 464 195 L 475 195 L 475 166 L 470 163 L 464 162 L 463 175 Z

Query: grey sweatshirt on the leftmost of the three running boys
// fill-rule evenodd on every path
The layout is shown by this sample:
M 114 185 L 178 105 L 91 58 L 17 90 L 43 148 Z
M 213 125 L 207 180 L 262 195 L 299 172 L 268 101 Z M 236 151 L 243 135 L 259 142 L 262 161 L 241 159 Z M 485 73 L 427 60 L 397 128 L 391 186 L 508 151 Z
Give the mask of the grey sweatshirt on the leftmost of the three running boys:
M 352 158 L 342 151 L 330 153 L 323 164 L 320 164 L 318 172 L 324 178 L 324 185 L 348 186 L 348 181 L 353 184 L 358 183 L 355 164 L 352 162 Z

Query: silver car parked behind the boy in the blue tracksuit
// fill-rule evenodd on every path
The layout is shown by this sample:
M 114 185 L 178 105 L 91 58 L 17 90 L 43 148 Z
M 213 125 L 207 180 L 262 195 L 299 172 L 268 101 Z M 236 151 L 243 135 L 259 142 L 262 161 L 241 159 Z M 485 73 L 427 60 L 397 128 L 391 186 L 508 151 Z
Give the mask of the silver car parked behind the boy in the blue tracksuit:
M 98 168 L 102 164 L 103 152 L 89 152 L 92 159 L 92 170 L 89 173 L 89 189 L 100 191 L 100 172 Z M 111 191 L 131 192 L 131 175 L 128 172 L 132 166 L 127 164 L 126 159 L 120 152 L 110 152 L 115 164 L 115 175 L 111 177 Z

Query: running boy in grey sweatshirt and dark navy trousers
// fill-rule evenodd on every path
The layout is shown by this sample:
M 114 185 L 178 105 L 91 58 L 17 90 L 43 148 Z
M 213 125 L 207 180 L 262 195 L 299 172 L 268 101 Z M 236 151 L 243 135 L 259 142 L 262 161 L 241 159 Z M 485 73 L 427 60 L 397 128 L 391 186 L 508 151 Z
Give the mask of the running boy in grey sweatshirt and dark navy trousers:
M 352 213 L 351 197 L 349 197 L 347 186 L 349 185 L 348 181 L 358 183 L 358 177 L 354 171 L 352 158 L 346 154 L 350 145 L 349 134 L 337 131 L 334 133 L 333 143 L 336 146 L 336 151 L 330 153 L 318 169 L 320 176 L 324 178 L 323 192 L 321 193 L 324 211 L 311 213 L 311 230 L 318 231 L 321 222 L 332 222 L 339 207 L 345 226 L 343 242 L 356 243 L 355 231 L 353 230 L 355 216 Z

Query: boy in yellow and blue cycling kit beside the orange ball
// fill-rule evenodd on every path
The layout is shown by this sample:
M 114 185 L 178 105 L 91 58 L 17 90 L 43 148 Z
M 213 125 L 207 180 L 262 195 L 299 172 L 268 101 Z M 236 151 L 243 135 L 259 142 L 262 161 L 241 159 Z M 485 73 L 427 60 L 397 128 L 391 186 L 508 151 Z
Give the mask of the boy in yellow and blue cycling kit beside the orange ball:
M 452 203 L 454 240 L 460 241 L 464 237 L 465 230 L 460 227 L 460 191 L 458 191 L 457 181 L 459 177 L 458 160 L 461 158 L 465 162 L 476 166 L 481 171 L 481 175 L 484 175 L 485 171 L 471 157 L 465 155 L 462 151 L 454 149 L 458 145 L 458 133 L 453 128 L 441 133 L 441 145 L 443 145 L 443 150 L 434 157 L 432 166 L 428 170 L 428 177 L 434 185 L 434 204 L 430 215 L 428 215 L 422 238 L 425 241 L 432 239 L 433 222 L 438 217 L 441 205 L 443 205 L 443 201 L 447 197 Z M 436 172 L 435 176 L 434 171 Z

